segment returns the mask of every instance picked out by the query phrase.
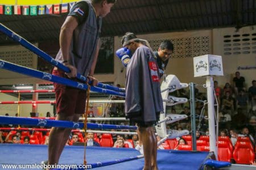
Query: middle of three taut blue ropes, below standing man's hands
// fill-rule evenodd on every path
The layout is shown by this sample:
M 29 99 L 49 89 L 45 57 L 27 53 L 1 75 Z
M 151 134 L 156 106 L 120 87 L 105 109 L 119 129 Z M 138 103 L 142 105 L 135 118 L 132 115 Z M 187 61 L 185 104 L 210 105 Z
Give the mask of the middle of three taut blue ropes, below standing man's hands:
M 44 79 L 44 80 L 48 80 L 48 81 L 55 82 L 55 83 L 65 84 L 67 86 L 80 88 L 83 90 L 87 90 L 87 88 L 88 88 L 88 86 L 84 83 L 75 82 L 73 80 L 61 78 L 59 76 L 55 76 L 55 75 L 52 75 L 49 73 L 44 73 L 42 71 L 30 69 L 30 68 L 27 68 L 24 66 L 15 65 L 14 63 L 3 61 L 2 59 L 0 59 L 0 69 L 14 71 L 19 74 L 25 74 L 28 76 L 33 76 L 35 78 Z M 117 92 L 117 91 L 108 90 L 108 89 L 100 88 L 100 87 L 91 86 L 90 90 L 94 91 L 94 92 L 100 92 L 103 94 L 110 94 L 110 95 L 125 97 L 124 92 Z

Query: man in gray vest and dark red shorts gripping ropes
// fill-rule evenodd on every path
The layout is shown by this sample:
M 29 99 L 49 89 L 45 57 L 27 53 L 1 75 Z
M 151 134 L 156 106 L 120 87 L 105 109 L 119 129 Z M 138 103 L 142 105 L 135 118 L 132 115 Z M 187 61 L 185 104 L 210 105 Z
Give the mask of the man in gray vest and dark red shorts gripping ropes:
M 80 1 L 72 6 L 60 30 L 60 50 L 56 60 L 67 66 L 71 73 L 55 67 L 53 75 L 77 80 L 76 74 L 93 78 L 97 62 L 101 19 L 110 12 L 116 0 Z M 78 80 L 77 80 L 78 81 Z M 56 93 L 56 120 L 77 122 L 85 112 L 86 91 L 54 83 Z M 58 164 L 71 129 L 52 128 L 49 134 L 48 164 Z

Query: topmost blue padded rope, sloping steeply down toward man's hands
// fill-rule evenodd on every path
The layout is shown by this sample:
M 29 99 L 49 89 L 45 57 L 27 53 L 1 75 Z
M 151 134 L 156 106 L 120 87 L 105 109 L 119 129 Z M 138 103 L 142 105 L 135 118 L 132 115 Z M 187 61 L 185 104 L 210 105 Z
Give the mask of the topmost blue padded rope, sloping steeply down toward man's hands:
M 11 29 L 5 27 L 5 25 L 3 25 L 1 23 L 0 23 L 0 31 L 5 33 L 5 35 L 9 36 L 11 39 L 18 42 L 19 44 L 21 44 L 28 50 L 31 50 L 31 52 L 34 52 L 35 54 L 37 54 L 39 57 L 45 59 L 47 62 L 49 62 L 52 65 L 58 67 L 59 69 L 65 71 L 65 73 L 70 73 L 70 70 L 68 67 L 66 67 L 62 63 L 56 61 L 51 56 L 49 56 L 49 54 L 47 54 L 43 50 L 40 50 L 35 45 L 31 44 L 30 42 L 25 40 L 23 37 L 19 36 L 17 33 L 13 32 Z M 86 77 L 79 73 L 77 73 L 76 77 L 84 82 L 86 80 Z M 122 88 L 110 86 L 109 84 L 98 83 L 97 87 L 106 88 L 106 89 L 113 90 L 113 91 L 125 92 L 125 90 L 123 90 Z

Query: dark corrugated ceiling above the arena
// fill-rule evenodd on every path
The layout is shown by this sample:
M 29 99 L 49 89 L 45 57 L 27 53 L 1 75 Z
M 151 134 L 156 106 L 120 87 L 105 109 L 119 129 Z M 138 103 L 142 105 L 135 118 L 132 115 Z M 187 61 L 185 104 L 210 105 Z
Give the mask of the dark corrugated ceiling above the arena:
M 58 41 L 67 14 L 1 15 L 0 22 L 31 42 Z M 255 0 L 117 0 L 101 36 L 156 33 L 256 24 Z M 0 33 L 0 45 L 13 43 Z

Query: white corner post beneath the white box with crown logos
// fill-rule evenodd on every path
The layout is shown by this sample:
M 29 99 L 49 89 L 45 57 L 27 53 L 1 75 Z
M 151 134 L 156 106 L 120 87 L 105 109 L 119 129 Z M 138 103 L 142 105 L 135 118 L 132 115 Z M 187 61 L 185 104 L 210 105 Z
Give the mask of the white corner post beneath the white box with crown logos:
M 214 96 L 213 96 L 213 78 L 207 76 L 207 100 L 208 100 L 208 117 L 209 117 L 209 135 L 210 135 L 210 151 L 213 151 L 216 159 L 218 159 L 218 150 L 216 147 L 216 130 L 215 130 L 215 114 L 214 114 Z

